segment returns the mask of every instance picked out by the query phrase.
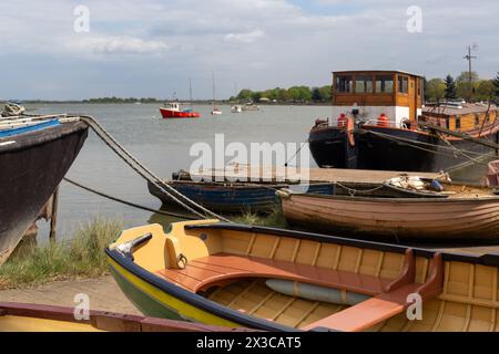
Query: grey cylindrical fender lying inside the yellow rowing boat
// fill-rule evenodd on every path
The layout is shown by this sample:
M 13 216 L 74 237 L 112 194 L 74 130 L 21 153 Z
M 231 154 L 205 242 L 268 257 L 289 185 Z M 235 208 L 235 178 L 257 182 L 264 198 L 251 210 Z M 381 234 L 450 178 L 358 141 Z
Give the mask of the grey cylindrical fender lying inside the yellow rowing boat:
M 267 279 L 265 283 L 268 288 L 282 294 L 340 305 L 355 305 L 370 299 L 369 295 L 356 292 L 299 283 L 291 280 Z

